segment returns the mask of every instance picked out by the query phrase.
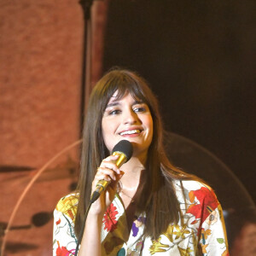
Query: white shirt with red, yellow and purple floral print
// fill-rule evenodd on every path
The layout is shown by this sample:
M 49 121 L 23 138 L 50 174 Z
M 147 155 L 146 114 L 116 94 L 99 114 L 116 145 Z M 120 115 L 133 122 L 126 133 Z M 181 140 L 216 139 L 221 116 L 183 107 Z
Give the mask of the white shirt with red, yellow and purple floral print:
M 222 208 L 212 189 L 196 181 L 183 181 L 187 207 L 180 182 L 176 181 L 177 200 L 183 212 L 183 224 L 169 224 L 157 240 L 143 236 L 145 214 L 134 216 L 131 231 L 127 229 L 125 208 L 116 195 L 102 219 L 102 255 L 203 255 L 228 256 L 228 244 Z M 77 238 L 74 218 L 78 199 L 61 198 L 54 212 L 53 255 L 73 255 Z

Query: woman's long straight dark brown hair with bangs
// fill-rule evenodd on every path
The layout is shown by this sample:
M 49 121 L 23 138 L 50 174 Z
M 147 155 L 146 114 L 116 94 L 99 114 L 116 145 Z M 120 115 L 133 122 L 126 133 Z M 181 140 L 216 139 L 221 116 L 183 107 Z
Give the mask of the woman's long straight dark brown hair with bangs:
M 127 92 L 131 93 L 131 96 L 148 105 L 152 115 L 154 134 L 148 148 L 145 166 L 147 172 L 137 212 L 146 212 L 145 236 L 157 239 L 166 231 L 168 224 L 177 224 L 181 215 L 173 180 L 199 180 L 199 178 L 182 172 L 172 166 L 167 159 L 163 146 L 163 127 L 158 102 L 142 77 L 123 69 L 111 70 L 105 74 L 90 96 L 84 123 L 75 233 L 79 235 L 84 212 L 90 201 L 91 183 L 96 175 L 96 168 L 109 154 L 102 137 L 102 114 L 115 91 L 118 92 L 117 99 L 125 96 Z

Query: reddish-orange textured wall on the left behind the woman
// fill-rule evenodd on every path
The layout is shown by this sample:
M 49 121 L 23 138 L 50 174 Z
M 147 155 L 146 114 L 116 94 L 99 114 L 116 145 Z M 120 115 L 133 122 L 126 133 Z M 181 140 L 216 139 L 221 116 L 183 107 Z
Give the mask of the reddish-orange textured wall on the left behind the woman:
M 0 222 L 6 224 L 37 170 L 80 137 L 84 18 L 79 1 L 0 0 L 0 5 Z M 94 4 L 93 83 L 101 73 L 105 15 L 106 3 Z M 78 159 L 75 147 L 48 167 L 14 225 L 30 224 L 33 214 L 54 209 L 75 181 Z M 50 255 L 51 233 L 52 221 L 11 230 L 6 253 Z

